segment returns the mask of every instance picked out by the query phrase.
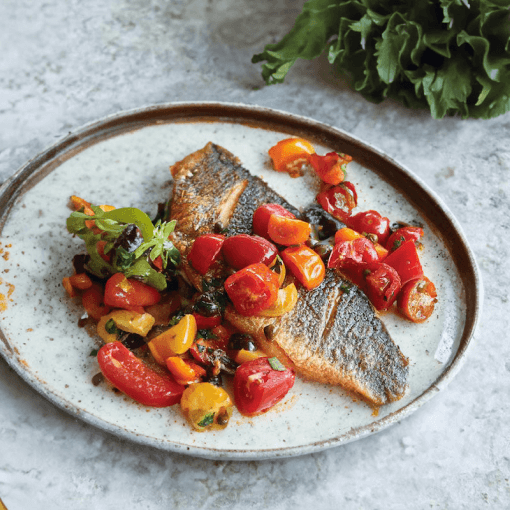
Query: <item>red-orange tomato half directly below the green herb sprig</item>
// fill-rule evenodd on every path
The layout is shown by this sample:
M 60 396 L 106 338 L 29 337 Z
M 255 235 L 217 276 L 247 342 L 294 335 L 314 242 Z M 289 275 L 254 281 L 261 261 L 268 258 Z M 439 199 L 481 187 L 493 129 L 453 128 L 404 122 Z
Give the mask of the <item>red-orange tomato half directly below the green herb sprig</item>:
M 124 308 L 143 313 L 144 306 L 159 303 L 161 294 L 150 285 L 127 279 L 123 273 L 115 273 L 106 282 L 104 302 L 114 308 Z

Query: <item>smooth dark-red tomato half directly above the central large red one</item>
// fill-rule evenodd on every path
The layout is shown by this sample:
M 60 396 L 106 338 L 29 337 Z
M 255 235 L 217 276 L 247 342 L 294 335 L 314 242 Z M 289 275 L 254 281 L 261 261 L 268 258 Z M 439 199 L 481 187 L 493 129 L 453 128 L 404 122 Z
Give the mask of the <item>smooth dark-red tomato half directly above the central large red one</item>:
M 222 247 L 225 262 L 234 269 L 258 262 L 270 266 L 278 255 L 276 246 L 260 236 L 239 234 L 225 239 Z

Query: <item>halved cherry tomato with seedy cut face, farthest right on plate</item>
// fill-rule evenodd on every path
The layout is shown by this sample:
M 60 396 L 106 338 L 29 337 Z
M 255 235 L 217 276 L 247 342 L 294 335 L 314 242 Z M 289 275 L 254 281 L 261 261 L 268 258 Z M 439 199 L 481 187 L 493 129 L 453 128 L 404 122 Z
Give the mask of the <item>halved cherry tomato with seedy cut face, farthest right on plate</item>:
M 435 285 L 426 277 L 407 282 L 397 299 L 399 311 L 413 322 L 425 322 L 437 301 Z

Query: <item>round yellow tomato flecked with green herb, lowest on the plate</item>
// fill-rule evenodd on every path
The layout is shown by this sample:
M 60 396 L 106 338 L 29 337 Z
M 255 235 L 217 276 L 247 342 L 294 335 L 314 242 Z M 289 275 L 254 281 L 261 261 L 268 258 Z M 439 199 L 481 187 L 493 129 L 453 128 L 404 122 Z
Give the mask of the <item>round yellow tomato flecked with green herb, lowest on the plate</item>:
M 181 410 L 195 430 L 224 429 L 232 415 L 232 401 L 224 389 L 211 383 L 191 384 L 182 395 Z

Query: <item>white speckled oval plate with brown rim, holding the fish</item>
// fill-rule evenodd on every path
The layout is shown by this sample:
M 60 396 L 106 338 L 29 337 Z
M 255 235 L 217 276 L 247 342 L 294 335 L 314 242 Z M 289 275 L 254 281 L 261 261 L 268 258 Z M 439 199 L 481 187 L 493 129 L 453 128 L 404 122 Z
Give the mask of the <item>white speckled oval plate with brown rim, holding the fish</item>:
M 311 202 L 317 183 L 272 172 L 267 150 L 298 135 L 318 152 L 351 154 L 349 179 L 358 210 L 425 225 L 422 262 L 439 302 L 425 324 L 388 313 L 383 320 L 410 358 L 410 390 L 378 416 L 339 388 L 297 381 L 267 414 L 235 413 L 221 432 L 197 433 L 177 407 L 149 409 L 106 385 L 89 354 L 98 345 L 78 327 L 82 310 L 62 288 L 82 242 L 66 231 L 68 197 L 135 206 L 150 215 L 170 191 L 169 165 L 208 141 L 237 155 L 252 173 L 296 206 Z M 143 444 L 208 458 L 266 459 L 310 453 L 360 439 L 404 418 L 444 388 L 459 370 L 481 303 L 480 277 L 459 225 L 411 172 L 350 135 L 310 119 L 253 106 L 169 104 L 121 113 L 85 126 L 21 168 L 1 188 L 0 352 L 52 402 L 88 423 Z

